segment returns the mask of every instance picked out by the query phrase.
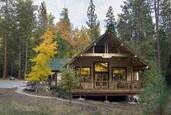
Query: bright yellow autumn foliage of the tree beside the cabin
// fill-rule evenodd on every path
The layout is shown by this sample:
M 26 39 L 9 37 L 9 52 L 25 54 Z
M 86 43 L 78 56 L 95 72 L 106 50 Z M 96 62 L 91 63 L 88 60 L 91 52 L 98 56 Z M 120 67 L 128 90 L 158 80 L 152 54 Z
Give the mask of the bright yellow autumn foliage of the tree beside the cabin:
M 54 35 L 51 29 L 48 29 L 42 38 L 43 41 L 40 45 L 33 48 L 37 56 L 31 59 L 34 65 L 31 68 L 31 72 L 27 75 L 27 80 L 29 81 L 46 80 L 48 75 L 51 74 L 49 62 L 57 53 L 57 45 L 53 40 Z

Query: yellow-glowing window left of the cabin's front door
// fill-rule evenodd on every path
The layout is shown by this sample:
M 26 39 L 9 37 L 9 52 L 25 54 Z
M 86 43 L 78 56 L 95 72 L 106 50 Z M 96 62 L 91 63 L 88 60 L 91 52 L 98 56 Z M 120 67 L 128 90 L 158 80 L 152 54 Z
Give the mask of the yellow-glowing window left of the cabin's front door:
M 82 78 L 82 81 L 90 81 L 90 73 L 90 67 L 76 67 L 76 74 Z

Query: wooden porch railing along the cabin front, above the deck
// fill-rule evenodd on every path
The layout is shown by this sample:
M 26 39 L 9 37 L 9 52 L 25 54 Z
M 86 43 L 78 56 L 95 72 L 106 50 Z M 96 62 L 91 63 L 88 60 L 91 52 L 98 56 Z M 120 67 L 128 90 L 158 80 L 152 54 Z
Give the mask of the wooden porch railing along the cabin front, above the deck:
M 142 89 L 142 81 L 94 81 L 94 82 L 81 82 L 80 88 L 82 89 L 111 89 L 111 90 L 133 90 Z

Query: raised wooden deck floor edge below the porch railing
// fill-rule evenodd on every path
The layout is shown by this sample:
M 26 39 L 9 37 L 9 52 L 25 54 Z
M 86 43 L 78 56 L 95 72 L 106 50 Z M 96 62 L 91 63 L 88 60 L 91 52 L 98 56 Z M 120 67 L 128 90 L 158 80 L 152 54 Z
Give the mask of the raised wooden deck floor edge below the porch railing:
M 72 90 L 73 96 L 128 96 L 135 95 L 142 92 L 143 89 L 138 90 L 109 90 L 109 89 L 75 89 Z

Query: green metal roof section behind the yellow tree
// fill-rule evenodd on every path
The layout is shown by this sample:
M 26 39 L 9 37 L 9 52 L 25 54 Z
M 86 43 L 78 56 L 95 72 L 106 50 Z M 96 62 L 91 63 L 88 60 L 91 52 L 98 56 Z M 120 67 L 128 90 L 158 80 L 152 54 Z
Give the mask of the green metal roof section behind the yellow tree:
M 54 58 L 50 62 L 50 67 L 52 71 L 61 71 L 71 59 L 69 58 Z

